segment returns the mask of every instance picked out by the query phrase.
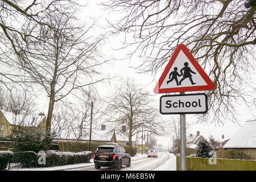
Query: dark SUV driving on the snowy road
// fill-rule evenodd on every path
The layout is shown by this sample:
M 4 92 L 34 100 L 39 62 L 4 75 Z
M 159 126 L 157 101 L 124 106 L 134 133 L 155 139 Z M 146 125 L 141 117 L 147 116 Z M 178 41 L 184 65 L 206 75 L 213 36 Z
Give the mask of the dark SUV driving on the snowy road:
M 98 146 L 93 155 L 93 161 L 96 169 L 108 166 L 121 170 L 122 165 L 131 166 L 131 156 L 122 146 Z

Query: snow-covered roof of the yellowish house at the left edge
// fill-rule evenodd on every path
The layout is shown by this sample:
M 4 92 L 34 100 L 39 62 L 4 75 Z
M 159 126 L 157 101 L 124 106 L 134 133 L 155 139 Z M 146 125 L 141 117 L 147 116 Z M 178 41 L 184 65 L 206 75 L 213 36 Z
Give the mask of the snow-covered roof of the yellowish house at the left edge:
M 5 110 L 1 110 L 3 113 L 3 116 L 6 118 L 6 120 L 11 124 L 11 125 L 24 125 L 24 126 L 28 126 L 30 125 L 32 122 L 36 125 L 38 125 L 43 117 L 40 117 L 39 115 L 35 115 L 35 114 L 17 114 L 15 115 L 12 112 L 9 111 L 5 111 Z

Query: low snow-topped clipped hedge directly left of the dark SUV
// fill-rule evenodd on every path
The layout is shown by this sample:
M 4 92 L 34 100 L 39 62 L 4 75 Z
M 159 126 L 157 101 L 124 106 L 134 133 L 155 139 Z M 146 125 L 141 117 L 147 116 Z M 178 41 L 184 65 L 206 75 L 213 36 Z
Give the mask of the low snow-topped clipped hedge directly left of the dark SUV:
M 84 152 L 46 152 L 46 166 L 63 166 L 68 164 L 89 163 L 92 158 L 91 151 Z

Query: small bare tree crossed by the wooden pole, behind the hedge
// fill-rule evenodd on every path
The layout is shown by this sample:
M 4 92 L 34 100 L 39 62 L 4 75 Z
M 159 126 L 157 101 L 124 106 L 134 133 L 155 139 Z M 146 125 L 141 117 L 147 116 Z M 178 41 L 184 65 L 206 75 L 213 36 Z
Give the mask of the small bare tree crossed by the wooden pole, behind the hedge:
M 92 118 L 93 132 L 105 113 L 104 105 L 95 89 L 89 87 L 86 92 L 78 95 L 82 96 L 75 96 L 76 104 L 61 101 L 56 104 L 56 111 L 53 113 L 53 132 L 59 139 L 71 142 L 66 150 L 75 146 L 80 139 L 89 139 L 90 119 Z

